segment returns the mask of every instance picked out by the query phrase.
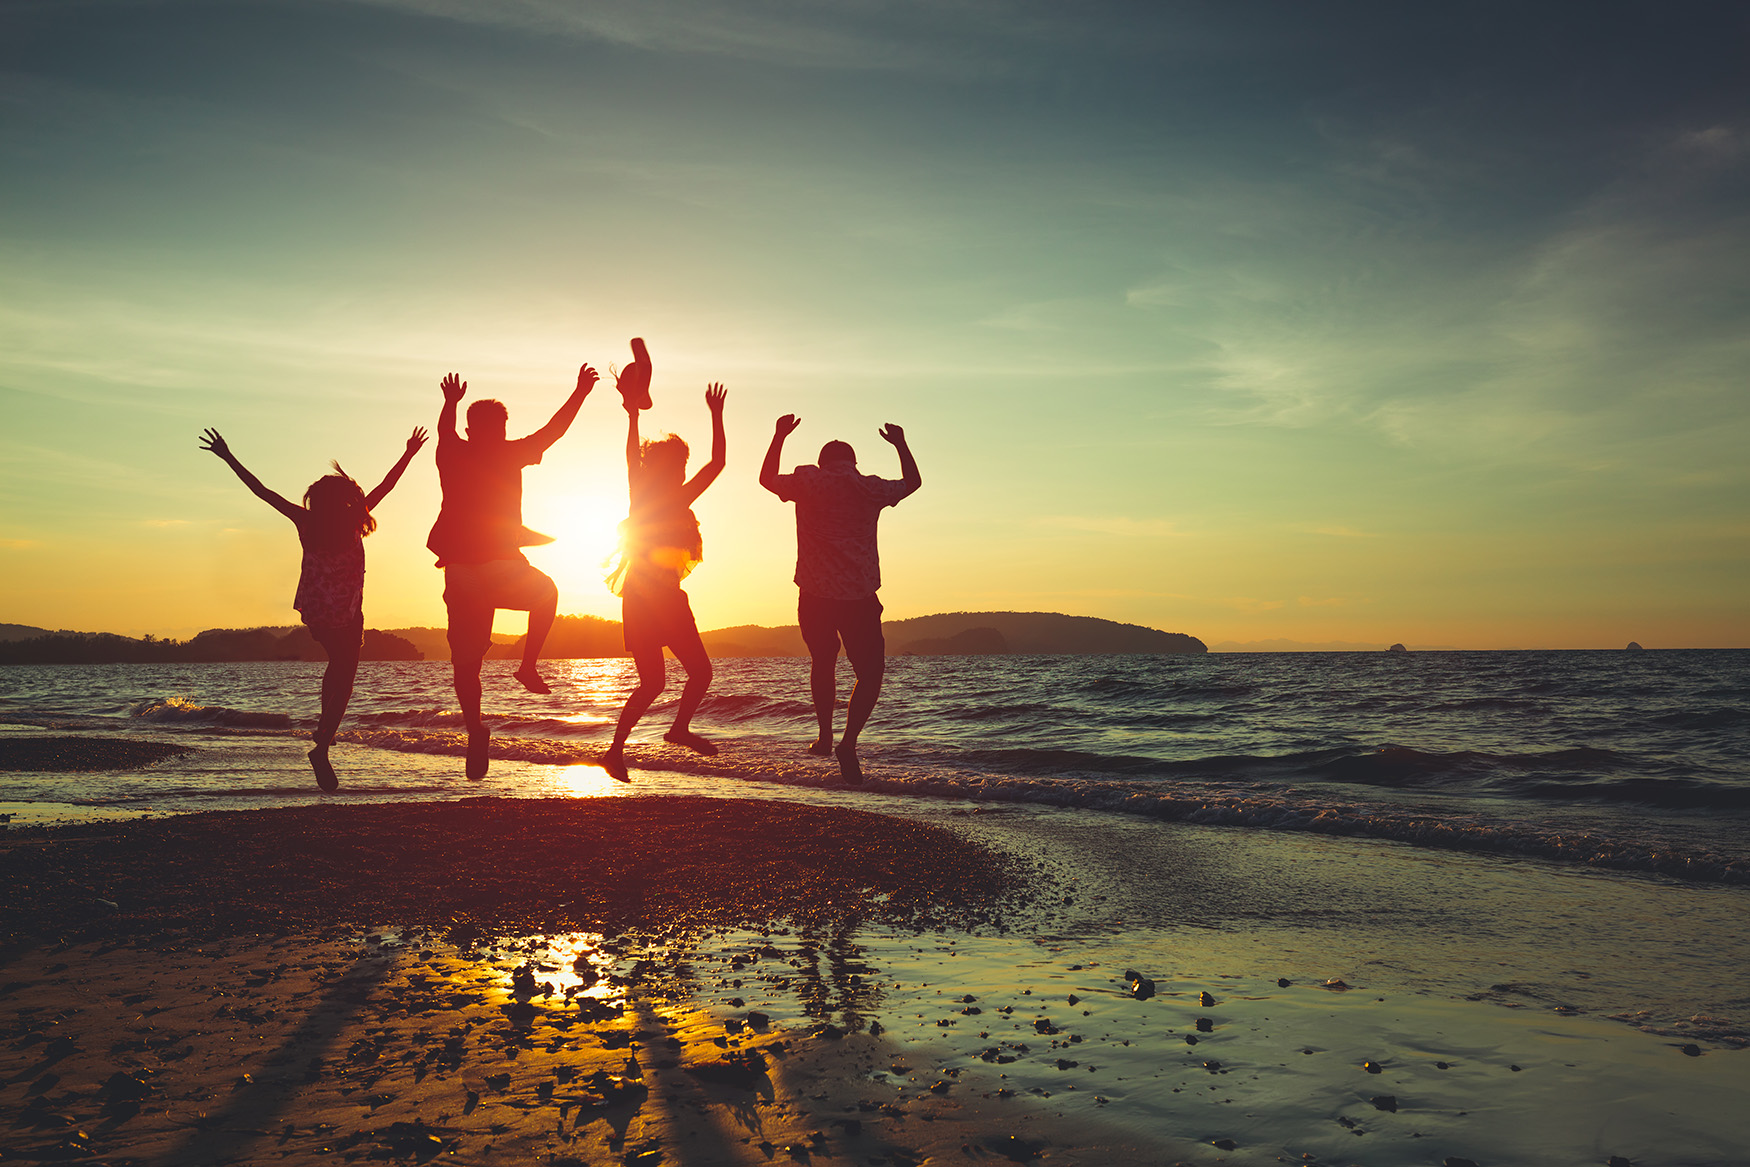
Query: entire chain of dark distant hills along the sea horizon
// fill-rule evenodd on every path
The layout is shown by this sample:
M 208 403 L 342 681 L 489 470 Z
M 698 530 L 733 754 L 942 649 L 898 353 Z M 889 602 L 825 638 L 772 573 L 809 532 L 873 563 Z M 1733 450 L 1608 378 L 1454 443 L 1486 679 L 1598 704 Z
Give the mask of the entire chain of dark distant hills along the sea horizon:
M 16 632 L 12 632 L 16 630 Z M 1120 625 L 1097 616 L 1060 612 L 943 612 L 882 625 L 891 656 L 1158 654 L 1206 653 L 1181 632 Z M 712 656 L 807 656 L 796 625 L 738 625 L 702 633 Z M 492 658 L 522 654 L 522 637 L 494 637 Z M 541 653 L 544 660 L 625 656 L 620 621 L 560 616 Z M 110 632 L 47 632 L 0 625 L 0 665 L 173 663 L 173 661 L 318 661 L 322 647 L 301 625 L 278 628 L 208 628 L 189 640 L 122 637 Z M 443 628 L 368 628 L 362 660 L 450 660 Z

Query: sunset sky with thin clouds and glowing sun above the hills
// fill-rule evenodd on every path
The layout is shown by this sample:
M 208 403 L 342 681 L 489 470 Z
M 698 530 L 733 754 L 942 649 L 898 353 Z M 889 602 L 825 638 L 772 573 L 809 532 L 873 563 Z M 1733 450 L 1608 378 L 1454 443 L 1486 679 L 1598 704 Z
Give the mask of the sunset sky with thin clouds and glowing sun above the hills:
M 0 7 L 0 621 L 294 623 L 287 495 L 439 378 L 542 423 L 656 362 L 730 467 L 700 626 L 794 623 L 845 437 L 924 488 L 889 618 L 1216 644 L 1750 646 L 1741 5 L 19 2 Z M 525 476 L 618 616 L 611 383 Z M 430 448 L 366 548 L 443 623 Z M 500 618 L 520 630 L 522 616 Z

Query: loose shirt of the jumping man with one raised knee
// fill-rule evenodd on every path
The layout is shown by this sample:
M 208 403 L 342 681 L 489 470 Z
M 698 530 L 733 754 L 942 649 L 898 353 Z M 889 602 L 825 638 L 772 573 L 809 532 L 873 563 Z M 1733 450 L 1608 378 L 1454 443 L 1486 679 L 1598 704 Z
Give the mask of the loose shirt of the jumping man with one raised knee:
M 523 467 L 537 465 L 546 446 L 516 441 L 438 437 L 438 481 L 443 507 L 425 546 L 438 567 L 522 560 L 523 548 L 553 542 L 523 527 Z

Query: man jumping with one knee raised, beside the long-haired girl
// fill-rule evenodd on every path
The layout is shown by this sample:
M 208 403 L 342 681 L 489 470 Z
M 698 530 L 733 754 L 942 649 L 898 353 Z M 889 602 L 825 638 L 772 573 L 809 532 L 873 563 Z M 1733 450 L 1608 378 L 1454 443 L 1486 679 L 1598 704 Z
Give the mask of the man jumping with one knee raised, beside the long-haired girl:
M 553 628 L 558 588 L 523 556 L 523 548 L 553 542 L 523 527 L 523 467 L 541 462 L 548 446 L 570 429 L 583 399 L 595 388 L 595 369 L 578 369 L 578 388 L 553 420 L 528 437 L 504 436 L 509 411 L 485 397 L 467 408 L 467 437 L 455 432 L 455 406 L 467 381 L 443 380 L 438 415 L 438 479 L 443 509 L 425 546 L 443 569 L 443 602 L 450 611 L 450 672 L 467 724 L 467 777 L 486 777 L 492 735 L 480 716 L 480 665 L 492 647 L 492 619 L 506 607 L 528 612 L 528 637 L 516 679 L 530 693 L 551 693 L 541 679 L 541 646 Z

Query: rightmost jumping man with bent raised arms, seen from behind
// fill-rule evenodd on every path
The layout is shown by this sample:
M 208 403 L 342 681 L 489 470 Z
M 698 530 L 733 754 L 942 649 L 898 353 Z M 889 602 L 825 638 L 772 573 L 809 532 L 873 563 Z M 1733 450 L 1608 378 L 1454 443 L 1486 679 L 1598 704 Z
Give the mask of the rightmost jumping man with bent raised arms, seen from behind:
M 858 474 L 858 453 L 847 443 L 821 446 L 819 465 L 798 465 L 793 474 L 779 474 L 784 439 L 802 422 L 793 413 L 777 420 L 772 446 L 760 467 L 760 485 L 786 502 L 796 504 L 796 619 L 808 646 L 808 689 L 821 735 L 808 752 L 836 756 L 838 770 L 852 786 L 863 780 L 858 763 L 858 735 L 863 733 L 882 674 L 887 670 L 887 642 L 880 632 L 880 556 L 875 549 L 875 523 L 882 507 L 896 506 L 924 485 L 917 460 L 905 444 L 905 430 L 884 425 L 880 436 L 900 451 L 900 481 Z M 833 705 L 838 700 L 838 646 L 844 642 L 856 688 L 845 710 L 845 733 L 833 747 Z

